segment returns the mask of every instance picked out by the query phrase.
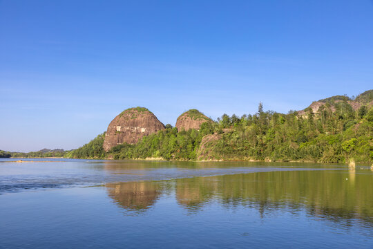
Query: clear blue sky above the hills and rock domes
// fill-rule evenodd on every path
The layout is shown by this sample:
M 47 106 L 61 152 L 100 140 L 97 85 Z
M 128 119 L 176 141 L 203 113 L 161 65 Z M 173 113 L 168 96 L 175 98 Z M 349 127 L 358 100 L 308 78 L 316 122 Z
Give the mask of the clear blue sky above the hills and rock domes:
M 373 1 L 1 1 L 0 149 L 77 148 L 128 107 L 175 124 L 373 86 Z

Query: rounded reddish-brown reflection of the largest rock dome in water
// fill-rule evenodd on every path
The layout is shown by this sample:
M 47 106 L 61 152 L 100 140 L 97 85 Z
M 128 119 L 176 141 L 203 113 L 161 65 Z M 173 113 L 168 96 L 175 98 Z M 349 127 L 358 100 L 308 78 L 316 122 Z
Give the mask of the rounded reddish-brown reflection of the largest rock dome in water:
M 160 194 L 160 185 L 156 182 L 108 183 L 106 187 L 108 196 L 128 210 L 150 208 Z

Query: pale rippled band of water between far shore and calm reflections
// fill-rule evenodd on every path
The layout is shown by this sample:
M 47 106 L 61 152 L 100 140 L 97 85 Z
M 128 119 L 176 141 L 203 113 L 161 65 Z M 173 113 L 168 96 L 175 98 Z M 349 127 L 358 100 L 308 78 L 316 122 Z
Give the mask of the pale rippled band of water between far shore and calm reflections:
M 23 159 L 22 159 L 23 160 Z M 218 176 L 274 170 L 341 169 L 345 165 L 315 163 L 173 162 L 79 159 L 24 159 L 16 163 L 0 158 L 0 194 L 92 186 L 128 181 L 160 181 L 194 176 Z

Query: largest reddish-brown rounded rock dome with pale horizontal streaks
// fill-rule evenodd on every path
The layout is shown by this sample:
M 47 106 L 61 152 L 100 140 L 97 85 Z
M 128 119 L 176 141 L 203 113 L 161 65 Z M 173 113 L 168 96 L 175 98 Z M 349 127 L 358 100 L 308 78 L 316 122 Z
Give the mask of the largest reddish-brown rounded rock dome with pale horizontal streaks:
M 148 109 L 144 107 L 126 109 L 108 125 L 103 147 L 105 151 L 109 151 L 124 142 L 134 144 L 143 136 L 162 129 L 165 129 L 164 124 Z

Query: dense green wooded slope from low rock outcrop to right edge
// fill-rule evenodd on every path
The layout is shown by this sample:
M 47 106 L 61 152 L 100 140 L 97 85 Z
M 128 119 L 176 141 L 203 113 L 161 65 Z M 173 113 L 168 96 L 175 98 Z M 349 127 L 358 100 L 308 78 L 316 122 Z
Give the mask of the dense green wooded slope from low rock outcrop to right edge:
M 343 102 L 342 102 L 343 103 Z M 371 110 L 372 111 L 372 108 Z M 213 159 L 309 160 L 323 163 L 372 162 L 373 122 L 352 108 L 321 107 L 307 116 L 258 111 L 254 116 L 222 116 L 217 127 L 231 128 L 209 143 Z

